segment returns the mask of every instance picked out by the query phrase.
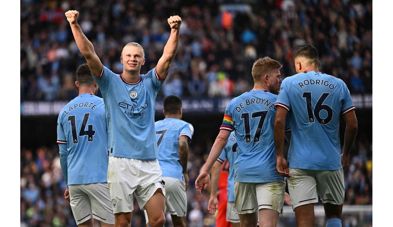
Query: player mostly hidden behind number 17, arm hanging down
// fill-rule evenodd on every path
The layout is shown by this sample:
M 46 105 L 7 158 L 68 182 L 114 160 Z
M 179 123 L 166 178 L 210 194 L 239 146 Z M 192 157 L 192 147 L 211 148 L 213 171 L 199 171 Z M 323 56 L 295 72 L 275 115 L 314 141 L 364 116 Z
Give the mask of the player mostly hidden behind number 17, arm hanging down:
M 217 186 L 219 183 L 220 176 L 220 168 L 224 161 L 227 162 L 229 167 L 229 175 L 228 175 L 228 186 L 226 187 L 228 197 L 227 197 L 227 205 L 226 205 L 226 221 L 231 222 L 232 227 L 240 227 L 240 219 L 237 214 L 237 210 L 235 207 L 235 186 L 234 186 L 234 178 L 235 178 L 235 168 L 233 164 L 237 159 L 237 142 L 235 133 L 231 132 L 229 140 L 224 147 L 224 150 L 220 154 L 219 158 L 213 164 L 211 168 L 211 189 L 210 189 L 210 199 L 208 203 L 208 210 L 210 214 L 215 214 L 216 210 L 220 210 L 219 201 L 217 199 Z M 217 224 L 217 226 L 220 226 Z

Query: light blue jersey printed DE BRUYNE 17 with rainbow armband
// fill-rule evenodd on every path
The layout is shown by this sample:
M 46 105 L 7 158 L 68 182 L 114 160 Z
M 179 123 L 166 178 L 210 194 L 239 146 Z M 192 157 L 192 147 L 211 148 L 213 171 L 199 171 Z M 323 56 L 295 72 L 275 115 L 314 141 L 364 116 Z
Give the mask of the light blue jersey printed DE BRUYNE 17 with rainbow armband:
M 220 129 L 235 130 L 235 180 L 243 183 L 282 181 L 276 169 L 273 136 L 275 100 L 267 90 L 250 90 L 231 100 Z

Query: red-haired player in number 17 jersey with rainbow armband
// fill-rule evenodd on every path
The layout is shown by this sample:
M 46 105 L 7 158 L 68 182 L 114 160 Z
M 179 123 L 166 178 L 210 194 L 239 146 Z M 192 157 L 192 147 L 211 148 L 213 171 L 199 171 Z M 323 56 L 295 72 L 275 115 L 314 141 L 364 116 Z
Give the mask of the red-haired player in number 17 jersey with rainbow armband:
M 282 214 L 285 181 L 275 168 L 273 124 L 275 100 L 281 85 L 281 64 L 270 57 L 257 59 L 252 67 L 254 87 L 231 100 L 220 133 L 206 166 L 195 182 L 197 191 L 209 182 L 213 163 L 235 131 L 235 205 L 241 226 L 276 226 Z

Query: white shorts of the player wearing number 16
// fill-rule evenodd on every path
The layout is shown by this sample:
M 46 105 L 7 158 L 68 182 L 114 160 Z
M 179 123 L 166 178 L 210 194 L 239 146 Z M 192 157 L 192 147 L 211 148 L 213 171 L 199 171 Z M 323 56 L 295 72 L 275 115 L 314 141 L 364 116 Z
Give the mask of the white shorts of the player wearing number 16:
M 309 203 L 341 205 L 344 201 L 344 173 L 339 170 L 304 170 L 289 168 L 287 178 L 292 209 Z

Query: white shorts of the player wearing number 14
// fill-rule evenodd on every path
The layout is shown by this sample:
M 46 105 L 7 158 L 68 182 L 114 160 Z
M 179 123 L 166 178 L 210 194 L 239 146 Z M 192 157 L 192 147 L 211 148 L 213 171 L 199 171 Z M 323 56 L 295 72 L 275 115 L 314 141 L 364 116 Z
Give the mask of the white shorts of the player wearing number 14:
M 68 192 L 71 210 L 77 225 L 90 218 L 108 224 L 115 223 L 107 183 L 69 185 Z

